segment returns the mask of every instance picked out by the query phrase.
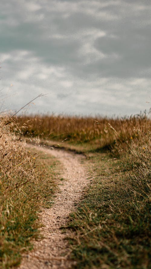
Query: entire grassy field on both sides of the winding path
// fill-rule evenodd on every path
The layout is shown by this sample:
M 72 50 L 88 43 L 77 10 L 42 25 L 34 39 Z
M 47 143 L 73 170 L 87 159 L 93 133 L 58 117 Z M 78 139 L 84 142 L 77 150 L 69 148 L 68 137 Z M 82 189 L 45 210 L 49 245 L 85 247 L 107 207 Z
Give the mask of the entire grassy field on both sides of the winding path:
M 2 268 L 19 263 L 30 238 L 39 236 L 37 211 L 40 205 L 47 206 L 47 195 L 53 195 L 61 167 L 50 158 L 25 150 L 25 140 L 86 156 L 85 166 L 93 180 L 66 227 L 73 233 L 69 243 L 76 268 L 149 268 L 150 126 L 146 113 L 122 119 L 54 115 L 2 118 Z M 40 170 L 45 175 L 44 184 L 40 184 Z M 52 174 L 49 184 L 48 174 Z

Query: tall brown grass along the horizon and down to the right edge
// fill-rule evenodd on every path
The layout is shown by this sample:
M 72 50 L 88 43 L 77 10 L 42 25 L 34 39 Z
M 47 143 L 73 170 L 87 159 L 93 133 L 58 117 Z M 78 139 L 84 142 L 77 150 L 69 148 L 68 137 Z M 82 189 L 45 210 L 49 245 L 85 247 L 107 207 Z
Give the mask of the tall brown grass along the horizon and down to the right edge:
M 95 151 L 109 150 L 127 169 L 148 171 L 151 119 L 146 113 L 116 119 L 37 115 L 19 117 L 17 122 L 23 126 L 24 136 L 92 144 Z

